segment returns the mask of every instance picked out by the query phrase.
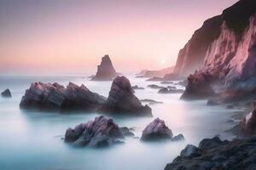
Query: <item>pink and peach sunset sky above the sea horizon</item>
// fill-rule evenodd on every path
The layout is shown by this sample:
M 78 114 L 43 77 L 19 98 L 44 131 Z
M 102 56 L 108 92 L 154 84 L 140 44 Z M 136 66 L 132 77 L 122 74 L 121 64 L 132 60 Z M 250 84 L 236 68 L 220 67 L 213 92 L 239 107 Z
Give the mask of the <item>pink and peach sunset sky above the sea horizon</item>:
M 0 75 L 95 74 L 175 65 L 203 21 L 237 0 L 0 0 Z

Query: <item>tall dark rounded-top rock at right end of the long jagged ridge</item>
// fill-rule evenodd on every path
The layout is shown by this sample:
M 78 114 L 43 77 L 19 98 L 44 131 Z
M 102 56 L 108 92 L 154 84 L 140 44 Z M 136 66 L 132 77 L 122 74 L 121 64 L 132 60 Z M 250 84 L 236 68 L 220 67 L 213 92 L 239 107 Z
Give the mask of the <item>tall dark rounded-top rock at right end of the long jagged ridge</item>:
M 113 80 L 108 100 L 99 111 L 129 116 L 152 116 L 151 108 L 141 104 L 133 94 L 131 83 L 126 77 L 116 77 Z

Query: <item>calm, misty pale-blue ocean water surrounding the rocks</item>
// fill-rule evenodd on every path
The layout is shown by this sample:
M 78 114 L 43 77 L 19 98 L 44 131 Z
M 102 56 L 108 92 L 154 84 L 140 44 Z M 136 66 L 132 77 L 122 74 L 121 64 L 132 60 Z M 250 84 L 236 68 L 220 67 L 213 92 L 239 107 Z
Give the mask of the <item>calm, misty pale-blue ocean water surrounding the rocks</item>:
M 144 78 L 129 77 L 132 85 L 146 88 Z M 9 88 L 13 97 L 0 97 L 0 169 L 3 170 L 160 170 L 171 162 L 186 144 L 198 144 L 203 138 L 220 135 L 231 139 L 225 130 L 233 114 L 221 106 L 206 106 L 206 101 L 185 102 L 181 94 L 157 94 L 157 89 L 137 90 L 139 99 L 155 99 L 163 104 L 151 105 L 153 117 L 113 117 L 119 126 L 135 127 L 140 137 L 154 118 L 166 121 L 172 133 L 183 133 L 183 142 L 142 143 L 127 138 L 125 144 L 107 149 L 73 148 L 63 142 L 67 127 L 75 127 L 98 116 L 96 113 L 61 115 L 20 111 L 19 104 L 31 82 L 84 83 L 91 91 L 108 96 L 111 82 L 91 82 L 82 77 L 0 77 L 0 91 Z M 162 84 L 161 84 L 162 85 Z M 178 87 L 178 86 L 177 86 Z M 183 87 L 178 87 L 183 88 Z

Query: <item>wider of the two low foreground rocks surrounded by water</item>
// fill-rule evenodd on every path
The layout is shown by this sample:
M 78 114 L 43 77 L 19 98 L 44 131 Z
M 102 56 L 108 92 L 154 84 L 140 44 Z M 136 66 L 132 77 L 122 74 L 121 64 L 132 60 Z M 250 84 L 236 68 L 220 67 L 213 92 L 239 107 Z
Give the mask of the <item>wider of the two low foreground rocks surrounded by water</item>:
M 74 146 L 97 148 L 122 143 L 120 139 L 124 139 L 125 136 L 133 136 L 129 128 L 119 127 L 111 118 L 98 116 L 94 121 L 68 128 L 65 142 Z

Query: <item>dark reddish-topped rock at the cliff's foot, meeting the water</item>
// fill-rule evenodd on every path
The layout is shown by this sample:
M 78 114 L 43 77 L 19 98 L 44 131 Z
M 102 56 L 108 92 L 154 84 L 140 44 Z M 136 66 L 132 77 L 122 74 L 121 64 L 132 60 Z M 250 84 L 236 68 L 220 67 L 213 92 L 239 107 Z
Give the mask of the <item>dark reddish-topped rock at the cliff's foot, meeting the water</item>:
M 207 99 L 216 96 L 212 89 L 210 82 L 208 82 L 208 75 L 195 74 L 188 77 L 188 85 L 181 96 L 181 99 Z

